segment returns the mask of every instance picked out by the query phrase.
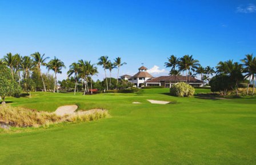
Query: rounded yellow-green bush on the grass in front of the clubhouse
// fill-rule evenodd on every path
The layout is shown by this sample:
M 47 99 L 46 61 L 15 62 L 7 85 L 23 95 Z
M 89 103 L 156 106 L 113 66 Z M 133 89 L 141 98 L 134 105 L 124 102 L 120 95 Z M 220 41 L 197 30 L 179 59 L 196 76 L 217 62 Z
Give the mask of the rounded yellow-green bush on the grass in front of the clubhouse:
M 193 96 L 194 92 L 194 87 L 185 82 L 173 84 L 170 88 L 170 94 L 173 96 Z

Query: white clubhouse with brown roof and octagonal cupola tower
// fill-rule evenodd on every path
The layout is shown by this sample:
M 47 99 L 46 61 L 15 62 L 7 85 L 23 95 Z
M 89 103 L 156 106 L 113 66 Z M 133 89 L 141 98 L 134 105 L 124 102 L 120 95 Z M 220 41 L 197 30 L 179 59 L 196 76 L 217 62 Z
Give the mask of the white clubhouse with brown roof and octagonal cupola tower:
M 178 82 L 188 82 L 191 86 L 199 87 L 203 86 L 203 81 L 198 80 L 194 77 L 187 77 L 178 75 L 178 76 L 160 76 L 153 77 L 151 74 L 147 73 L 147 68 L 145 66 L 140 67 L 139 72 L 133 76 L 130 75 L 122 75 L 120 78 L 125 79 L 131 83 L 134 83 L 136 87 L 142 86 L 163 86 L 166 88 L 170 88 L 172 84 Z

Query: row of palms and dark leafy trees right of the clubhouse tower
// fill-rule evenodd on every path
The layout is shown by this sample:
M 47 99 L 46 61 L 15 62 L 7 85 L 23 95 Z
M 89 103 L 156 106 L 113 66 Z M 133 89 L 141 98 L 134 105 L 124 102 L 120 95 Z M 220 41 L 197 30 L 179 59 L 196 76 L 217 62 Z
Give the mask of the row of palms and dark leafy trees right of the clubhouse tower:
M 181 58 L 177 58 L 175 55 L 171 55 L 165 62 L 166 67 L 171 67 L 170 75 L 178 76 L 182 72 L 185 72 L 186 82 L 190 82 L 191 77 L 196 77 L 197 74 L 201 75 L 201 80 L 210 84 L 212 91 L 220 91 L 226 94 L 228 90 L 235 90 L 238 95 L 238 84 L 247 81 L 247 91 L 249 94 L 250 82 L 253 82 L 253 91 L 255 89 L 256 79 L 256 57 L 253 54 L 245 55 L 245 58 L 240 62 L 220 61 L 215 67 L 202 67 L 197 59 L 193 58 L 193 55 L 184 55 Z M 215 76 L 210 78 L 211 76 Z

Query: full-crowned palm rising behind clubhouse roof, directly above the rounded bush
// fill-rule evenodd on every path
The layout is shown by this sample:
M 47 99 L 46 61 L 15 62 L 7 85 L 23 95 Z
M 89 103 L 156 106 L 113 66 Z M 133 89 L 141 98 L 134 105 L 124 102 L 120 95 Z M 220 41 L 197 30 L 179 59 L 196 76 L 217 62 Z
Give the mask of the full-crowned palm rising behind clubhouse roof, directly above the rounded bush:
M 189 81 L 190 81 L 190 72 L 195 71 L 200 66 L 199 61 L 193 58 L 193 55 L 184 55 L 179 61 L 179 70 L 186 71 L 186 82 L 187 82 L 187 71 L 189 72 Z

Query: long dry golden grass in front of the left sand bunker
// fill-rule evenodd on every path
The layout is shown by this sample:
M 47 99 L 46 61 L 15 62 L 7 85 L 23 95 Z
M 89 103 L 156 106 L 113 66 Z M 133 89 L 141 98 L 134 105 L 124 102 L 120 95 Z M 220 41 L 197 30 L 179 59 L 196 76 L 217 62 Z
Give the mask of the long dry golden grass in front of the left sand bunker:
M 20 107 L 0 106 L 0 123 L 12 127 L 38 127 L 61 122 L 88 122 L 108 116 L 106 110 L 89 110 L 72 115 L 59 116 L 55 113 L 29 110 Z

